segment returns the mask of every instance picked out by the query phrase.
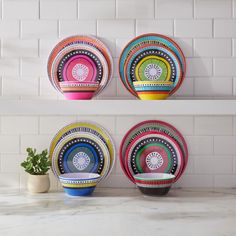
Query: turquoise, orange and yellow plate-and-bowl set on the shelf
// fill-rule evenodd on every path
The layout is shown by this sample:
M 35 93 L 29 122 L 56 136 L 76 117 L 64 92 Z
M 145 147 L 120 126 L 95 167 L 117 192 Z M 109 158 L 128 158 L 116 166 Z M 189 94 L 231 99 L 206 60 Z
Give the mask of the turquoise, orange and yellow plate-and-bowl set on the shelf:
M 131 40 L 119 60 L 120 79 L 134 96 L 165 99 L 181 86 L 186 72 L 180 47 L 160 34 L 144 34 Z

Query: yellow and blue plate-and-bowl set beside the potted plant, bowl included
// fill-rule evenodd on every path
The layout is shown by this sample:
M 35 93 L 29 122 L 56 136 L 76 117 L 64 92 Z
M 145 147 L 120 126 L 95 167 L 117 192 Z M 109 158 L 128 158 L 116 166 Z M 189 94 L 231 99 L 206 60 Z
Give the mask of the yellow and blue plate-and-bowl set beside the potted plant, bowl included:
M 72 123 L 53 138 L 52 170 L 65 192 L 89 195 L 109 176 L 115 163 L 115 146 L 108 132 L 91 122 Z

